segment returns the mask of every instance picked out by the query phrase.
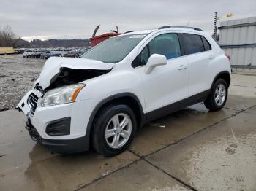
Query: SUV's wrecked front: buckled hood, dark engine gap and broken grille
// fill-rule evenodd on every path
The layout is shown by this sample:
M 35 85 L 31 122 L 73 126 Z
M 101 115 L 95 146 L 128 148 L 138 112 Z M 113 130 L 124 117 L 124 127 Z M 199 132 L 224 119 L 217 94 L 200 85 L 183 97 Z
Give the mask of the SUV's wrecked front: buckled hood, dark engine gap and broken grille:
M 49 90 L 99 77 L 111 71 L 113 66 L 113 63 L 102 63 L 85 58 L 49 58 L 34 88 L 26 93 L 16 109 L 26 115 L 34 115 L 39 98 Z

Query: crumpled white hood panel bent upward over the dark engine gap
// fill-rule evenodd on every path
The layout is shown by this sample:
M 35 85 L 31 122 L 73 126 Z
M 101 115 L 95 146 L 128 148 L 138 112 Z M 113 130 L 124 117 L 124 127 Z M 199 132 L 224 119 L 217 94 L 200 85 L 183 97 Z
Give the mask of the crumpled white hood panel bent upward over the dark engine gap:
M 86 58 L 50 57 L 45 62 L 45 66 L 43 66 L 41 74 L 35 84 L 39 83 L 42 89 L 49 87 L 50 80 L 59 73 L 60 68 L 110 70 L 113 66 L 115 66 L 114 63 L 103 63 Z

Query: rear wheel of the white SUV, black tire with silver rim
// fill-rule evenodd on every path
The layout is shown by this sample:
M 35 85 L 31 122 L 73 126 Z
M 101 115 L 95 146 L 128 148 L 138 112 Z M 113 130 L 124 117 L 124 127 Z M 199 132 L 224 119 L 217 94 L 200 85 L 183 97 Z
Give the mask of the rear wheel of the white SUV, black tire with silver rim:
M 211 112 L 219 111 L 223 106 L 225 106 L 227 94 L 227 82 L 222 78 L 217 79 L 211 88 L 210 95 L 208 95 L 208 98 L 204 101 L 206 108 Z

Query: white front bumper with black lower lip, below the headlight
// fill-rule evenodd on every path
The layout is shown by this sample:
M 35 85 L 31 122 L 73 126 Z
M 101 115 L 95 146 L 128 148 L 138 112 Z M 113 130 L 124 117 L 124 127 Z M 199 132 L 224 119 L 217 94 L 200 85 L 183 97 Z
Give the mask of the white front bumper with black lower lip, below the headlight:
M 34 114 L 31 114 L 27 101 L 31 93 L 39 97 Z M 39 142 L 53 152 L 71 153 L 88 150 L 90 137 L 89 133 L 86 134 L 86 128 L 91 112 L 99 100 L 87 99 L 69 104 L 41 107 L 39 104 L 41 96 L 37 90 L 31 90 L 17 106 L 17 109 L 28 117 L 28 125 L 26 126 L 29 133 L 38 133 Z M 67 133 L 62 131 L 59 134 L 51 134 L 47 131 L 49 124 L 63 119 L 69 119 L 69 129 L 65 131 Z

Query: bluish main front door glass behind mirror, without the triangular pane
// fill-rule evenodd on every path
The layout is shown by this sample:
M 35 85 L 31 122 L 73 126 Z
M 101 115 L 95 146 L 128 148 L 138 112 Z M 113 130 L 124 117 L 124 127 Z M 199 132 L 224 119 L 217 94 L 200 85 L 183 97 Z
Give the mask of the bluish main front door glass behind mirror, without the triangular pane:
M 165 55 L 167 59 L 181 56 L 177 34 L 161 34 L 148 43 L 150 55 Z

